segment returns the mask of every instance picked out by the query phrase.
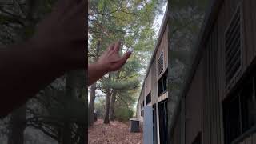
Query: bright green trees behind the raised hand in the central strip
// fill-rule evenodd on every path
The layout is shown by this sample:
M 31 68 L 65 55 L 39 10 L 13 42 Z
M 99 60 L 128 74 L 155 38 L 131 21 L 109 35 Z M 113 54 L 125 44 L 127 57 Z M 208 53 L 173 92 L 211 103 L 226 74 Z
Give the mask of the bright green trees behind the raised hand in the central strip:
M 92 0 L 89 6 L 88 59 L 96 62 L 113 42 L 121 40 L 120 53 L 133 49 L 121 70 L 106 74 L 89 89 L 89 125 L 94 109 L 104 123 L 127 121 L 134 116 L 146 67 L 154 51 L 154 20 L 163 14 L 166 0 Z M 160 26 L 157 26 L 160 29 Z

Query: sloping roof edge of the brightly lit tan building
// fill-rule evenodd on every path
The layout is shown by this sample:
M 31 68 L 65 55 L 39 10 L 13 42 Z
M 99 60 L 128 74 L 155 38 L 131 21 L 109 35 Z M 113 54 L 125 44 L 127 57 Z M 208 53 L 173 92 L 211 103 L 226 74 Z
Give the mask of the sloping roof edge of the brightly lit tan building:
M 154 53 L 152 54 L 151 58 L 150 58 L 150 62 L 149 62 L 149 65 L 148 67 L 146 68 L 146 75 L 145 75 L 145 78 L 143 79 L 143 83 L 142 83 L 142 89 L 145 85 L 145 81 L 146 81 L 146 77 L 148 76 L 148 74 L 150 73 L 150 67 L 152 65 L 152 63 L 154 62 L 154 58 L 157 54 L 157 51 L 158 51 L 158 46 L 160 45 L 161 43 L 161 39 L 162 39 L 162 36 L 165 32 L 165 28 L 167 26 L 167 22 L 168 22 L 168 18 L 167 18 L 167 14 L 168 14 L 168 4 L 166 6 L 166 11 L 165 11 L 165 14 L 164 14 L 164 17 L 162 18 L 162 24 L 160 26 L 160 30 L 158 32 L 158 39 L 157 39 L 157 42 L 155 43 L 154 45 Z M 142 89 L 141 89 L 141 92 L 139 94 L 139 97 L 138 99 L 141 97 L 141 94 L 142 94 Z M 138 103 L 138 102 L 137 102 Z

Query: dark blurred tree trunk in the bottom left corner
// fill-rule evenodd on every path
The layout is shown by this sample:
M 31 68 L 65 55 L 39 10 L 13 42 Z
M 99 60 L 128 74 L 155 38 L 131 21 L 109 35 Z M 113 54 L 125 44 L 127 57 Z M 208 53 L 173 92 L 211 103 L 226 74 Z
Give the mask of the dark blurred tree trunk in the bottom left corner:
M 13 112 L 10 116 L 8 144 L 23 144 L 26 128 L 26 104 Z

